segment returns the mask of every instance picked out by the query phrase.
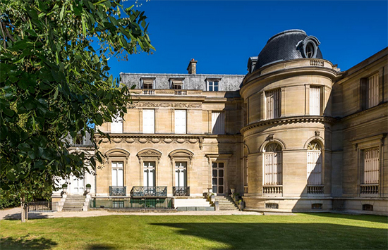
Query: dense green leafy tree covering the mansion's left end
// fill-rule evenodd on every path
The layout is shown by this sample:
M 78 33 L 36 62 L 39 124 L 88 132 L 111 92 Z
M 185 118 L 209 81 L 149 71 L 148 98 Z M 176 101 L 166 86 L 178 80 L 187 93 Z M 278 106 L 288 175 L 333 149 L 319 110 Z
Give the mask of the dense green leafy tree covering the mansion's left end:
M 90 124 L 104 136 L 98 125 L 126 112 L 131 96 L 107 55 L 154 49 L 145 19 L 120 0 L 0 0 L 2 192 L 25 203 L 50 194 L 55 176 L 83 176 L 85 155 L 69 154 L 65 138 L 93 137 Z

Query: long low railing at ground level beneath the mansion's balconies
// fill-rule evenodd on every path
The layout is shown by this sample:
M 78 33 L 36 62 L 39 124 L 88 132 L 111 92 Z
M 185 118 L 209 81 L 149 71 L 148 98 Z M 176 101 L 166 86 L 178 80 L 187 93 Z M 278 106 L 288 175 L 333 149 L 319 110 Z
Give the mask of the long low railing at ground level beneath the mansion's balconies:
M 91 199 L 90 208 L 110 209 L 173 209 L 174 204 L 171 198 L 160 199 L 132 199 L 132 198 L 109 198 Z

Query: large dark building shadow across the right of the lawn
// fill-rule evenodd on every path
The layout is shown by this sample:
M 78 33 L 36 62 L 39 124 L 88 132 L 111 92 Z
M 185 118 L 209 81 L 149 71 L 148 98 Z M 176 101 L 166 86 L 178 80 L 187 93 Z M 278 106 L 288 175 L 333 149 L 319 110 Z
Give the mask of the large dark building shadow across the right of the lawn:
M 328 223 L 154 223 L 222 249 L 388 249 L 388 230 Z M 185 240 L 185 239 L 182 239 Z M 218 249 L 218 248 L 214 248 Z

